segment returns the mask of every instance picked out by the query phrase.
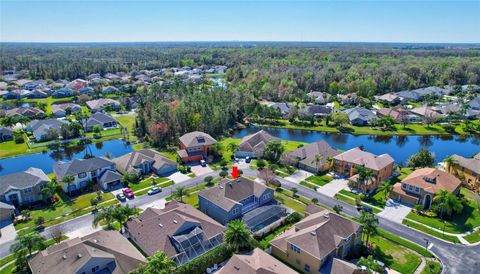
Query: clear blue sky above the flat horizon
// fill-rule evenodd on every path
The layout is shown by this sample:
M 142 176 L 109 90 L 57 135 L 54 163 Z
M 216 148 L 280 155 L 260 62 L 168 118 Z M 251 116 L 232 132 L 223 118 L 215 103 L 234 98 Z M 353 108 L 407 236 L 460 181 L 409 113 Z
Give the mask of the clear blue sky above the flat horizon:
M 474 1 L 0 0 L 2 42 L 480 42 Z

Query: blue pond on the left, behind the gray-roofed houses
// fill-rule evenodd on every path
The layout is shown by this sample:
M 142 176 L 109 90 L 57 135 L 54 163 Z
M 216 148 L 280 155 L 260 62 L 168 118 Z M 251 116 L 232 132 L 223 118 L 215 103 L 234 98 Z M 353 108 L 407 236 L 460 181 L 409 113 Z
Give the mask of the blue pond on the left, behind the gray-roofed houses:
M 20 172 L 29 167 L 36 167 L 46 174 L 52 173 L 53 164 L 57 161 L 81 159 L 88 152 L 94 156 L 105 156 L 108 152 L 112 157 L 119 157 L 132 151 L 132 146 L 121 139 L 99 142 L 89 145 L 78 145 L 68 148 L 49 150 L 46 153 L 26 154 L 0 160 L 3 170 L 1 175 Z

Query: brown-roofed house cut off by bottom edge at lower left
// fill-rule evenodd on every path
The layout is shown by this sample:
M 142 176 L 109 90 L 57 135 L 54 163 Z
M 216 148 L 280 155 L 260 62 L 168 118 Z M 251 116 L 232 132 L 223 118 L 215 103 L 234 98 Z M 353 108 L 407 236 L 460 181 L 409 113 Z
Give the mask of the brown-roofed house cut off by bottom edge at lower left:
M 28 260 L 32 273 L 128 274 L 145 257 L 118 231 L 100 230 L 69 239 L 38 252 Z

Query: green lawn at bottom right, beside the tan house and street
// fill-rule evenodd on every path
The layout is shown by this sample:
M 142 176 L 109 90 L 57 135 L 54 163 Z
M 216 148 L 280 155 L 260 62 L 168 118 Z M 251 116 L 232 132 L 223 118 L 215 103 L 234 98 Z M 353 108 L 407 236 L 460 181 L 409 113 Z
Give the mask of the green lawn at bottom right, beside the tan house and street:
M 373 250 L 375 259 L 400 273 L 414 273 L 422 262 L 422 259 L 406 248 L 399 248 L 398 244 L 383 237 L 371 237 L 375 247 Z

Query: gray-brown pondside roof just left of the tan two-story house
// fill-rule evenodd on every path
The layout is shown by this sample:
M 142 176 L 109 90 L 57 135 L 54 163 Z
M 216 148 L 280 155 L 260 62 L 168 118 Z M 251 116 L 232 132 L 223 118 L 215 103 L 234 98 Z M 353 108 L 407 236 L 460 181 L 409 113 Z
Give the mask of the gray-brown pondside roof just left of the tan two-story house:
M 325 141 L 318 141 L 287 152 L 284 154 L 284 157 L 292 161 L 298 157 L 301 164 L 316 168 L 315 157 L 317 155 L 322 156 L 320 162 L 318 162 L 318 166 L 322 166 L 327 162 L 329 157 L 333 158 L 338 154 L 340 154 L 340 151 L 333 149 Z

